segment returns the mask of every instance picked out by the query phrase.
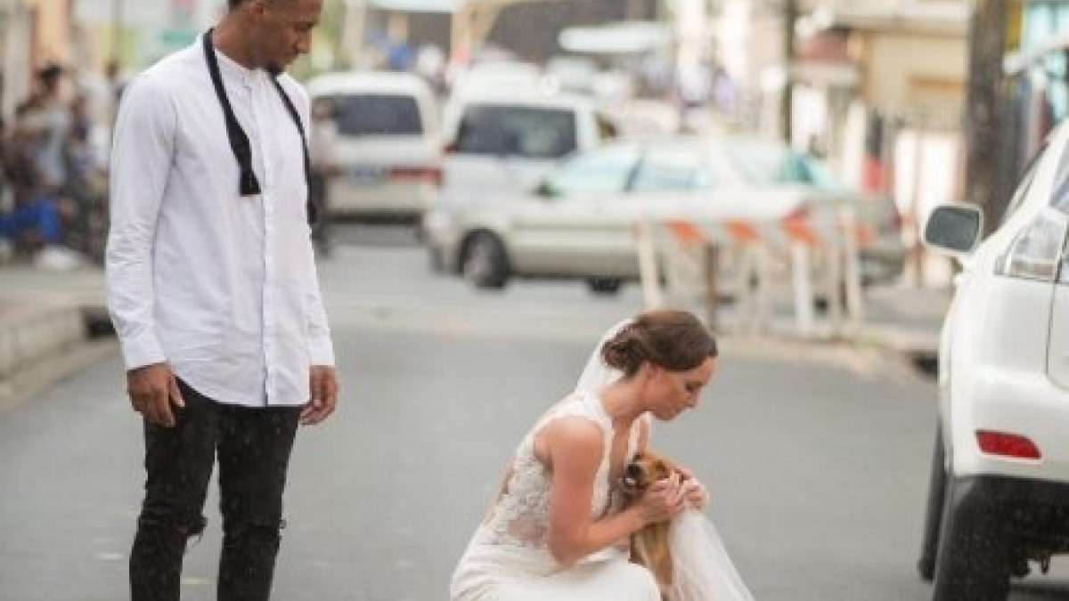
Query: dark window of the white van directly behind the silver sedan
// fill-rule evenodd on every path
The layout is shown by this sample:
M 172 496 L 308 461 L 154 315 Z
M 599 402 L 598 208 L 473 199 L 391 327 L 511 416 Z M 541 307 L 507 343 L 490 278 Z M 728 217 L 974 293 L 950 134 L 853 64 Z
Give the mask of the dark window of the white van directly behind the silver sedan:
M 561 158 L 576 148 L 575 113 L 568 109 L 470 105 L 453 152 L 523 158 Z

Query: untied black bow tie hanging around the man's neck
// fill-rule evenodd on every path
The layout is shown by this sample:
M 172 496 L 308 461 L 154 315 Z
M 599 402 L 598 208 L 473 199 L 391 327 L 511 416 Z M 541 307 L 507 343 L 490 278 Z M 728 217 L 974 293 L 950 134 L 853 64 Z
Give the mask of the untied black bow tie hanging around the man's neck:
M 230 148 L 234 151 L 234 158 L 237 159 L 237 166 L 241 169 L 242 174 L 238 182 L 238 189 L 242 196 L 254 196 L 261 194 L 262 189 L 260 187 L 260 180 L 257 179 L 257 173 L 252 169 L 252 144 L 249 142 L 249 137 L 245 134 L 245 129 L 242 128 L 242 124 L 234 117 L 234 109 L 230 106 L 230 98 L 227 97 L 227 90 L 222 86 L 219 61 L 216 59 L 215 48 L 212 46 L 212 31 L 210 29 L 203 35 L 204 60 L 207 62 L 207 70 L 212 75 L 212 84 L 215 87 L 215 94 L 218 96 L 219 105 L 222 107 Z M 305 126 L 300 123 L 300 115 L 297 113 L 297 108 L 293 106 L 293 101 L 290 99 L 289 94 L 282 89 L 282 84 L 279 83 L 278 78 L 272 77 L 272 82 L 275 83 L 275 89 L 278 91 L 279 96 L 281 96 L 286 111 L 297 125 L 297 132 L 300 134 L 300 150 L 304 153 L 305 159 L 305 184 L 308 187 L 311 178 L 311 164 L 308 158 L 308 138 L 305 135 Z M 310 194 L 308 196 L 307 212 L 308 222 L 315 222 L 317 212 L 315 205 L 312 203 Z

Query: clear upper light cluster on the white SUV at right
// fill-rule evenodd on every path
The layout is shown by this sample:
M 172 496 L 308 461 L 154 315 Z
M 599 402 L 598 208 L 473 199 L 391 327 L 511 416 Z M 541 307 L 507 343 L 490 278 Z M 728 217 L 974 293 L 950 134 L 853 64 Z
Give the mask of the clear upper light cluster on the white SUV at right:
M 1044 209 L 1017 233 L 1009 250 L 995 263 L 995 273 L 1039 281 L 1054 281 L 1062 259 L 1066 216 Z

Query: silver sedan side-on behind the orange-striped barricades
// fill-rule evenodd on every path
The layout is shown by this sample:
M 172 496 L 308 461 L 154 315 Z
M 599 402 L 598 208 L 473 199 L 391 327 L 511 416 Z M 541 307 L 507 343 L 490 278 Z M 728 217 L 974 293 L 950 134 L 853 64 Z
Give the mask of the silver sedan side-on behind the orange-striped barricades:
M 765 167 L 778 175 L 746 163 L 766 156 L 744 152 L 761 144 L 775 148 L 752 138 L 679 137 L 600 147 L 561 163 L 528 195 L 437 205 L 424 217 L 424 242 L 434 266 L 480 288 L 501 288 L 514 276 L 568 277 L 614 292 L 638 278 L 634 231 L 645 220 L 771 224 L 810 213 L 826 218 L 822 209 L 847 202 L 842 190 L 799 182 L 797 170 L 788 169 L 800 160 L 791 153 Z M 863 256 L 863 272 L 897 276 L 904 259 L 897 209 L 889 200 L 852 198 L 881 249 Z

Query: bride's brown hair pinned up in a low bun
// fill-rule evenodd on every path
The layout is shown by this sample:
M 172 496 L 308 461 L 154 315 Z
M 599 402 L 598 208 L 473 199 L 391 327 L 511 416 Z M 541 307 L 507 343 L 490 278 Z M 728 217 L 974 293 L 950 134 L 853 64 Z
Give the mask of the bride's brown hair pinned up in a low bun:
M 639 313 L 601 350 L 608 367 L 634 375 L 644 361 L 669 371 L 686 371 L 717 354 L 716 339 L 687 311 L 655 309 Z

